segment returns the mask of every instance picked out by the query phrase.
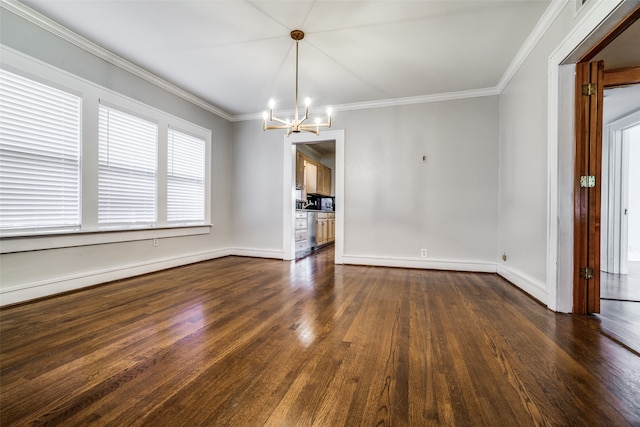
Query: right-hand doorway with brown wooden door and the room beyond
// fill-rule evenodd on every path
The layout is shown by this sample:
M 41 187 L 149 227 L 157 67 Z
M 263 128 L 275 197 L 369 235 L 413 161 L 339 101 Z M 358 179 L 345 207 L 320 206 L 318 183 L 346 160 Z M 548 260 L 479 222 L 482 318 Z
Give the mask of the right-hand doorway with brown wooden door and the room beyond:
M 640 198 L 640 195 L 636 196 L 638 187 L 633 185 L 639 180 L 633 177 L 639 166 L 634 166 L 637 160 L 632 141 L 635 126 L 640 124 L 640 116 L 636 115 L 640 112 L 640 92 L 633 86 L 640 84 L 640 56 L 627 54 L 634 51 L 629 48 L 628 41 L 640 36 L 639 17 L 640 7 L 637 7 L 576 64 L 573 312 L 596 314 L 604 334 L 640 353 L 640 299 L 634 298 L 640 290 L 640 281 L 634 284 L 636 274 L 628 274 L 629 267 L 633 267 L 635 273 L 635 264 L 630 262 L 635 254 L 630 254 L 629 243 L 635 241 L 637 233 L 635 220 L 629 215 L 629 203 Z M 597 73 L 597 84 L 592 79 L 585 80 L 586 85 L 580 85 L 580 74 L 587 66 L 593 74 L 596 63 L 602 68 L 602 74 Z M 591 103 L 590 112 L 582 114 L 580 100 L 592 95 L 591 82 L 594 82 L 593 94 L 599 99 L 595 105 Z M 600 97 L 604 90 L 602 102 Z M 626 99 L 625 95 L 628 95 Z M 584 153 L 582 157 L 580 152 Z M 586 164 L 589 166 L 583 167 Z M 587 170 L 588 173 L 582 173 Z M 585 197 L 602 200 L 602 208 L 600 203 L 579 203 L 581 194 L 589 190 L 593 192 Z M 593 226 L 581 227 L 583 221 Z M 583 257 L 584 253 L 586 257 Z M 586 274 L 583 274 L 584 270 Z M 626 280 L 629 278 L 632 280 Z

